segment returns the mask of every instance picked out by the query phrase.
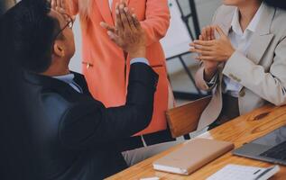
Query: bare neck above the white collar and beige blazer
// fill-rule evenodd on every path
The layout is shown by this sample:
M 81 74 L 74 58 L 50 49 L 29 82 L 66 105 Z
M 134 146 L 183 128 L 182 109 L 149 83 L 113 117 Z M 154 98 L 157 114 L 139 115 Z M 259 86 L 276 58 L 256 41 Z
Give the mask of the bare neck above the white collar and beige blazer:
M 238 6 L 239 10 L 239 23 L 243 31 L 247 28 L 248 24 L 254 18 L 254 15 L 258 11 L 261 2 L 260 1 L 245 1 L 243 5 Z

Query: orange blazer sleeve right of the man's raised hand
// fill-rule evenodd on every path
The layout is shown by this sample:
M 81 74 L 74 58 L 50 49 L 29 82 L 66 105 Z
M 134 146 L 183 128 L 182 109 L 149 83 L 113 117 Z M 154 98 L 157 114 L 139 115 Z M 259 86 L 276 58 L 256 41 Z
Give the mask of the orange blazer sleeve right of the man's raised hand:
M 170 11 L 167 0 L 148 0 L 145 20 L 141 22 L 147 37 L 147 46 L 163 38 L 170 25 Z

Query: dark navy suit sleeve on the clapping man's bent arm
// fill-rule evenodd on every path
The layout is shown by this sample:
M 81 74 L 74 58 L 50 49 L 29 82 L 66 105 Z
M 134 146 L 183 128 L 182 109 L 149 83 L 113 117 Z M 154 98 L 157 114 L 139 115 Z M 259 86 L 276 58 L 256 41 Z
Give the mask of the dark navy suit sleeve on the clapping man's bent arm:
M 151 119 L 158 75 L 152 68 L 131 66 L 124 106 L 105 108 L 89 98 L 74 104 L 60 121 L 60 141 L 68 148 L 88 148 L 124 139 L 145 129 Z

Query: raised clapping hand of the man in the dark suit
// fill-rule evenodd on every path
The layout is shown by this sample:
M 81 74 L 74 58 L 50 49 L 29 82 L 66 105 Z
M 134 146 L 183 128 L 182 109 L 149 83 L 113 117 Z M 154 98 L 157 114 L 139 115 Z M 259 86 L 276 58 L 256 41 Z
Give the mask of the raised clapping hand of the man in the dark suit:
M 100 25 L 107 30 L 110 39 L 117 46 L 129 53 L 130 58 L 144 58 L 146 38 L 137 17 L 126 6 L 125 2 L 116 4 L 115 8 L 115 27 L 107 23 L 100 23 Z

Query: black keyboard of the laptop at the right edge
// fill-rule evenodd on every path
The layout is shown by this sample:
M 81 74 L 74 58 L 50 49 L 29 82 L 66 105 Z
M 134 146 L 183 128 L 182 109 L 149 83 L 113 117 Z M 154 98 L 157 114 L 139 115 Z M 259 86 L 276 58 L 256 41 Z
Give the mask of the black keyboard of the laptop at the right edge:
M 280 143 L 273 148 L 266 150 L 265 152 L 260 154 L 260 156 L 286 160 L 286 141 Z

